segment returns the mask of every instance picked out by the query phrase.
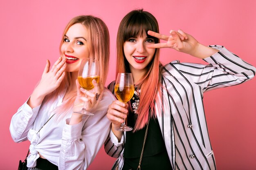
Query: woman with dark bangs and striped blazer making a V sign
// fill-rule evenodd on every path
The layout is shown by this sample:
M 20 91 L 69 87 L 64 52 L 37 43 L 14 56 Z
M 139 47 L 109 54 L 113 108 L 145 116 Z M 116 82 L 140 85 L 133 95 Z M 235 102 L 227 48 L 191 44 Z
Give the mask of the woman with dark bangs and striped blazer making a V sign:
M 159 48 L 209 64 L 175 60 L 163 66 Z M 128 104 L 115 100 L 108 108 L 112 128 L 105 150 L 118 158 L 112 170 L 215 170 L 203 93 L 246 82 L 255 70 L 225 47 L 204 46 L 182 30 L 159 34 L 149 12 L 128 13 L 117 33 L 117 73 L 132 73 L 136 90 Z M 109 85 L 110 91 L 114 86 L 115 82 Z M 123 118 L 133 131 L 116 130 Z

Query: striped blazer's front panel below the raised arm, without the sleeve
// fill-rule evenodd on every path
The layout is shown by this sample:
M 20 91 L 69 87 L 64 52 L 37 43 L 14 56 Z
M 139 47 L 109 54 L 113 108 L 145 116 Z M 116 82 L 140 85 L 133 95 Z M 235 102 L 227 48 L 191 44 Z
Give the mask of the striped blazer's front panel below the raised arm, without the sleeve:
M 211 146 L 202 100 L 199 101 L 200 87 L 191 83 L 172 63 L 164 67 L 162 75 L 165 107 L 158 119 L 174 169 L 211 169 L 205 156 L 211 152 Z

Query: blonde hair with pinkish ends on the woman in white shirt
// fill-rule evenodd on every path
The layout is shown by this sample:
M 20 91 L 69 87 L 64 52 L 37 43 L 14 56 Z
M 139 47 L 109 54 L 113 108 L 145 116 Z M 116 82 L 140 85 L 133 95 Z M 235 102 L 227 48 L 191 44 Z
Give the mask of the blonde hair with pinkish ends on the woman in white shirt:
M 106 24 L 97 17 L 92 15 L 80 15 L 72 18 L 67 24 L 60 44 L 60 53 L 61 46 L 64 42 L 64 36 L 67 33 L 70 26 L 81 23 L 88 31 L 88 49 L 90 53 L 90 58 L 95 58 L 99 60 L 100 65 L 100 81 L 105 86 L 107 75 L 108 75 L 108 63 L 109 63 L 109 53 L 110 53 L 110 39 L 108 27 Z M 61 85 L 52 93 L 47 95 L 43 102 L 54 102 L 58 95 L 64 95 L 69 90 L 71 81 L 71 73 L 67 72 L 65 79 L 61 82 Z M 73 109 L 74 100 L 76 98 L 76 92 L 66 96 L 65 101 L 54 109 L 54 113 L 57 113 L 58 117 L 64 117 Z M 61 115 L 61 116 L 60 116 Z

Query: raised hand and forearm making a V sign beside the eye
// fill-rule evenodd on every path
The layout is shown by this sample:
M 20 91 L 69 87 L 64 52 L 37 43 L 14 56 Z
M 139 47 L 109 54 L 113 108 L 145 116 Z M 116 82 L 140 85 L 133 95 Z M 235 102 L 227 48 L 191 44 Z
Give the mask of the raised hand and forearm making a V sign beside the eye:
M 171 30 L 170 34 L 168 36 L 148 31 L 148 35 L 167 41 L 164 43 L 150 44 L 148 48 L 172 48 L 198 58 L 206 58 L 218 52 L 216 49 L 200 44 L 193 36 L 184 33 L 182 30 Z

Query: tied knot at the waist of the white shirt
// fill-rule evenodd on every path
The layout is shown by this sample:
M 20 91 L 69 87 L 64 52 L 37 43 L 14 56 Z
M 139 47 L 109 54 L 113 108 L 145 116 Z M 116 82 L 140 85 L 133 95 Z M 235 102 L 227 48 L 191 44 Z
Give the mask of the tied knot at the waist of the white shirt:
M 38 159 L 39 154 L 38 151 L 36 150 L 36 144 L 39 140 L 38 134 L 36 134 L 36 130 L 30 129 L 27 135 L 27 139 L 30 141 L 30 146 L 29 146 L 29 156 L 27 157 L 27 167 L 33 168 L 36 166 L 36 159 Z

